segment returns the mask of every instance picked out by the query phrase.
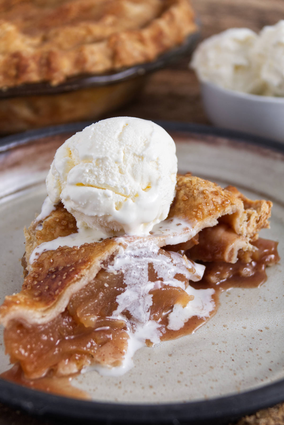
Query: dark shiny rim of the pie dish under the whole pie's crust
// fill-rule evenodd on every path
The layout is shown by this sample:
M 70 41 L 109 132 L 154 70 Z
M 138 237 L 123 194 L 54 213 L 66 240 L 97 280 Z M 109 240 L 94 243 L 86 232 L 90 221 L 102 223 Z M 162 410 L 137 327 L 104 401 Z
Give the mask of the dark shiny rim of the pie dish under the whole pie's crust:
M 197 22 L 198 25 L 198 22 Z M 37 96 L 43 94 L 59 94 L 68 91 L 79 90 L 82 88 L 99 87 L 126 81 L 131 78 L 141 77 L 150 72 L 156 71 L 159 68 L 167 65 L 170 62 L 178 59 L 186 53 L 191 53 L 199 39 L 199 30 L 193 32 L 181 45 L 172 48 L 170 51 L 160 55 L 152 62 L 146 62 L 131 68 L 123 68 L 115 73 L 99 74 L 99 75 L 80 75 L 71 77 L 66 82 L 59 85 L 50 85 L 48 82 L 23 84 L 17 87 L 0 89 L 0 99 L 18 96 Z

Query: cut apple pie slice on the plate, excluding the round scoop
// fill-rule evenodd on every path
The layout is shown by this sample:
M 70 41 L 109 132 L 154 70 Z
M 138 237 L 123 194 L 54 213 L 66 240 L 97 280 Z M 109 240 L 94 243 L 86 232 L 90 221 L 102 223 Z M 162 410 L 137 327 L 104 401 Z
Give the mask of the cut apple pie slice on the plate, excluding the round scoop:
M 30 379 L 125 371 L 137 348 L 192 333 L 220 289 L 258 286 L 279 260 L 277 244 L 258 239 L 271 207 L 179 175 L 168 218 L 148 236 L 64 246 L 77 224 L 54 205 L 25 229 L 23 287 L 0 307 L 11 363 Z

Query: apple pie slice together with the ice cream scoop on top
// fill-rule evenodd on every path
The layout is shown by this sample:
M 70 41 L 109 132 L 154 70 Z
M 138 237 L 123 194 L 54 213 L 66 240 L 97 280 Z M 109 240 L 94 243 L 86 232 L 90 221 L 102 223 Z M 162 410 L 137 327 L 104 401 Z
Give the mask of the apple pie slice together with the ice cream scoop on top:
M 272 203 L 176 176 L 173 150 L 161 127 L 133 118 L 86 127 L 57 150 L 48 198 L 25 229 L 23 287 L 0 307 L 6 351 L 27 379 L 90 365 L 124 373 L 136 349 L 192 333 L 219 290 L 258 286 L 279 260 L 277 244 L 258 238 Z

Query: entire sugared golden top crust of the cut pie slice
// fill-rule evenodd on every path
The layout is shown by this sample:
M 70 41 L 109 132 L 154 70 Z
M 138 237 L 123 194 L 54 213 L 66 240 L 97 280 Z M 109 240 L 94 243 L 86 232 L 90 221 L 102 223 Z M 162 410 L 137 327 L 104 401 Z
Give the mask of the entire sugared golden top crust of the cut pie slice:
M 253 250 L 250 244 L 255 240 L 261 227 L 269 227 L 272 203 L 251 201 L 234 187 L 222 189 L 217 184 L 186 174 L 177 176 L 176 197 L 170 207 L 168 221 L 181 219 L 183 240 L 193 238 L 200 230 L 225 223 L 239 235 L 238 249 Z M 123 236 L 105 239 L 99 243 L 84 244 L 80 247 L 59 247 L 43 252 L 29 264 L 32 250 L 45 241 L 58 236 L 77 232 L 76 222 L 62 206 L 46 217 L 42 229 L 33 221 L 26 229 L 26 261 L 29 274 L 19 294 L 7 296 L 0 307 L 0 320 L 6 326 L 11 319 L 23 319 L 29 323 L 47 323 L 64 311 L 70 297 L 82 289 L 97 275 L 104 261 L 124 249 L 126 243 L 145 244 L 153 241 L 158 246 L 169 244 L 169 235 L 152 235 L 139 238 Z

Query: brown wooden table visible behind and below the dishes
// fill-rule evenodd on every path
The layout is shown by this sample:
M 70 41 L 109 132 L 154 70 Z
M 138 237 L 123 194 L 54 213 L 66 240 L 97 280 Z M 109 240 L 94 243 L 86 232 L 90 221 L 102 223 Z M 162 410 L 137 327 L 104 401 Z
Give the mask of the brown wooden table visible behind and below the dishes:
M 202 38 L 231 27 L 259 31 L 264 25 L 284 19 L 284 0 L 192 0 L 202 21 Z M 128 107 L 112 116 L 137 116 L 144 119 L 210 124 L 199 96 L 199 84 L 188 69 L 190 57 L 152 74 L 145 90 Z M 64 422 L 58 422 L 63 425 Z M 0 425 L 51 425 L 51 419 L 32 418 L 0 404 Z M 241 419 L 238 425 L 284 425 L 284 406 L 258 412 Z M 209 424 L 208 424 L 209 425 Z

